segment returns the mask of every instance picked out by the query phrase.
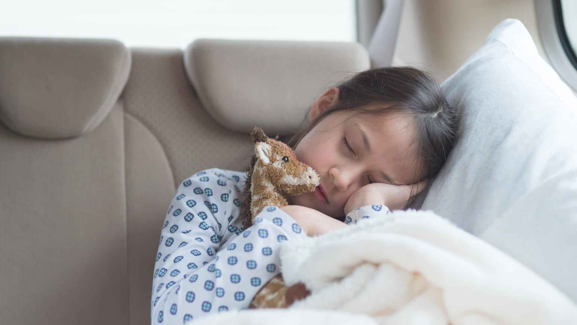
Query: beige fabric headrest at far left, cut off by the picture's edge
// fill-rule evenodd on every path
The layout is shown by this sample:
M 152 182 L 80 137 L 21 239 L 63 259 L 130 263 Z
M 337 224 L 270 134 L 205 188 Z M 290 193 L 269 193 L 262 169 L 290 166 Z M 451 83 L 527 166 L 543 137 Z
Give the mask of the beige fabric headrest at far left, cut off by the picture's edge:
M 0 120 L 33 138 L 93 130 L 118 100 L 130 51 L 117 40 L 0 38 Z

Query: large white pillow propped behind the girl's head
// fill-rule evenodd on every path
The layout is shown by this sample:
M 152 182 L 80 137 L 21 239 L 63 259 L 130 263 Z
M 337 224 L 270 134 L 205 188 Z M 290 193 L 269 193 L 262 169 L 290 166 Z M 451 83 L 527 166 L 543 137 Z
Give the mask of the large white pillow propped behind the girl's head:
M 421 208 L 577 301 L 577 99 L 514 19 L 443 88 L 462 106 L 462 135 Z

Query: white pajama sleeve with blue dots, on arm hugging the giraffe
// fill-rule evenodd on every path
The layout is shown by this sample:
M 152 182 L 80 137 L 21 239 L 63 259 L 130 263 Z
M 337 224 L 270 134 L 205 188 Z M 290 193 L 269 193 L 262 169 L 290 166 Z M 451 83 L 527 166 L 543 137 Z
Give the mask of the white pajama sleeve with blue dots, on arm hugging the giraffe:
M 248 308 L 280 272 L 280 242 L 306 236 L 273 206 L 243 230 L 239 175 L 209 169 L 178 187 L 156 256 L 152 324 L 183 324 L 211 312 Z

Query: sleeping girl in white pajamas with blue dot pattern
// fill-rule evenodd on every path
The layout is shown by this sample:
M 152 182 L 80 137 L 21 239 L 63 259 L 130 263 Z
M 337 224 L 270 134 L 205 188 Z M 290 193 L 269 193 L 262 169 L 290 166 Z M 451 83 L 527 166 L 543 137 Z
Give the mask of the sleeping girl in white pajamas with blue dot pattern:
M 369 69 L 331 87 L 287 141 L 320 185 L 239 217 L 246 172 L 212 168 L 183 180 L 168 208 L 153 274 L 153 324 L 244 309 L 280 272 L 280 242 L 322 235 L 409 206 L 444 164 L 457 112 L 428 73 Z

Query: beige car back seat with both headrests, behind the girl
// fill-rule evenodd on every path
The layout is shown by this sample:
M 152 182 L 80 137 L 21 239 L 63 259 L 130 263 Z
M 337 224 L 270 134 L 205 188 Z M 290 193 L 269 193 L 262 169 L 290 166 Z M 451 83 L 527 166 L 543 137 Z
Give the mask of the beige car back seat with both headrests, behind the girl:
M 245 170 L 254 125 L 294 131 L 368 67 L 354 43 L 0 38 L 0 323 L 149 324 L 177 184 Z

